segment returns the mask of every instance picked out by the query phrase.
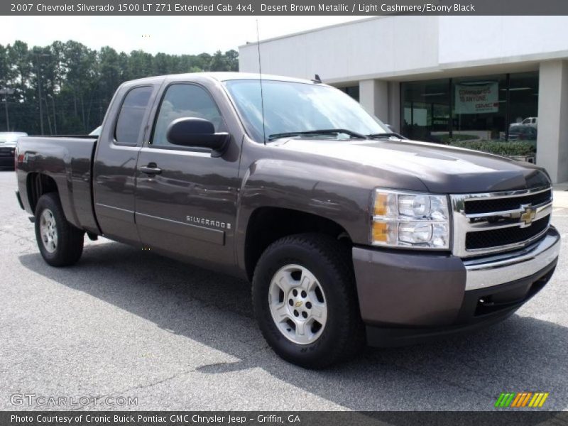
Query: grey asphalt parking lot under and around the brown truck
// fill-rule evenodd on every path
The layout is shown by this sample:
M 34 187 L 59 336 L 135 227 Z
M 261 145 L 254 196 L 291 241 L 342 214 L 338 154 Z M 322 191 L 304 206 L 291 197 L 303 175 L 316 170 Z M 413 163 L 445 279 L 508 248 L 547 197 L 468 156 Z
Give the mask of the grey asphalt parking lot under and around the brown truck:
M 48 266 L 15 189 L 0 172 L 1 410 L 66 409 L 14 394 L 138 400 L 84 407 L 104 410 L 491 410 L 505 391 L 568 408 L 568 204 L 553 216 L 554 278 L 509 320 L 307 371 L 268 349 L 248 283 L 105 239 L 77 266 Z

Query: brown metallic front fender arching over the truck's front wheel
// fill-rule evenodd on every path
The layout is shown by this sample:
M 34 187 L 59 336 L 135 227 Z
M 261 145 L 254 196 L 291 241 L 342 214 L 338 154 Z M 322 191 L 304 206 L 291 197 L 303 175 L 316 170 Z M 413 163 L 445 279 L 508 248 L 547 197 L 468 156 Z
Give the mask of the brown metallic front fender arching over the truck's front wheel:
M 244 268 L 247 227 L 251 215 L 260 207 L 293 209 L 324 217 L 341 225 L 354 244 L 368 244 L 368 188 L 374 182 L 375 178 L 359 173 L 295 160 L 264 158 L 253 162 L 244 174 L 237 201 L 237 263 Z

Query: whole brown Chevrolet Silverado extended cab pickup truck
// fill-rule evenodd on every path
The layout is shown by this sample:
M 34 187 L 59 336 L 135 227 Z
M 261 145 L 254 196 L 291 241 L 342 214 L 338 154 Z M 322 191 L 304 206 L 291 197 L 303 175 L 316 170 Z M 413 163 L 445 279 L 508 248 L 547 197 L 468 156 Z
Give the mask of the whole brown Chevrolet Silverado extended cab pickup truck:
M 15 155 L 47 263 L 87 234 L 251 280 L 263 336 L 308 368 L 503 320 L 559 253 L 545 170 L 403 140 L 315 80 L 126 82 L 98 139 Z

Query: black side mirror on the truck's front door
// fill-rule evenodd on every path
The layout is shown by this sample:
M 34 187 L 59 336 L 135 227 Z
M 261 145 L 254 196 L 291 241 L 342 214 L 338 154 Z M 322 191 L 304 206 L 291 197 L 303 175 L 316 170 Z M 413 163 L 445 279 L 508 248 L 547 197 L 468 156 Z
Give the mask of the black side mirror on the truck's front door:
M 165 136 L 174 145 L 208 148 L 212 151 L 212 157 L 222 155 L 231 138 L 226 132 L 215 133 L 211 121 L 197 117 L 175 119 L 168 126 Z

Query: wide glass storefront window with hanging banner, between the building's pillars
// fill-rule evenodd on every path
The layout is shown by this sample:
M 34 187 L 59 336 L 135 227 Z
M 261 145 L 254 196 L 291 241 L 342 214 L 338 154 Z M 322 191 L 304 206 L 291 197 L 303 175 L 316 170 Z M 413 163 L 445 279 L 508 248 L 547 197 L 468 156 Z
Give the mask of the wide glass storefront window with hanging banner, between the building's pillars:
M 418 141 L 536 140 L 538 72 L 403 82 L 401 132 Z

